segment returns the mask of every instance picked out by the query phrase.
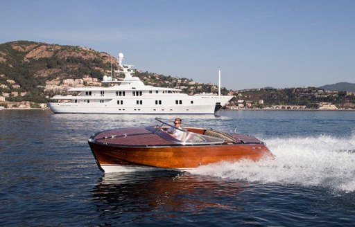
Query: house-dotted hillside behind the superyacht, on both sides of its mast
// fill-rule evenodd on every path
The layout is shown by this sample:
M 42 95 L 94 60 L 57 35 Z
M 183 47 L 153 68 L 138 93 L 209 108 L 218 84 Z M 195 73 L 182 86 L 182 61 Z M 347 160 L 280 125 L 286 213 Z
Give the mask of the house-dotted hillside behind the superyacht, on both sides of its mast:
M 65 79 L 96 78 L 110 75 L 119 64 L 115 57 L 81 46 L 62 46 L 40 42 L 16 41 L 0 44 L 0 96 L 6 101 L 47 102 L 53 92 L 46 84 L 58 86 Z M 148 85 L 177 87 L 184 93 L 216 92 L 214 84 L 201 84 L 187 78 L 135 71 L 135 76 Z M 222 89 L 226 94 L 227 90 Z M 19 96 L 18 94 L 21 94 Z

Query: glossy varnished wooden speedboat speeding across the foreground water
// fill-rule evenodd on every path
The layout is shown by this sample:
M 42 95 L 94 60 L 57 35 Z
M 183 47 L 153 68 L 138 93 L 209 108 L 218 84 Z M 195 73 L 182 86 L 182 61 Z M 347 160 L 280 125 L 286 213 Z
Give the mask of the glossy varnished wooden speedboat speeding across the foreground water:
M 100 170 L 187 170 L 220 161 L 258 161 L 272 156 L 266 144 L 253 136 L 184 127 L 182 139 L 177 140 L 166 132 L 173 125 L 160 118 L 155 120 L 159 125 L 112 129 L 92 135 L 88 143 Z

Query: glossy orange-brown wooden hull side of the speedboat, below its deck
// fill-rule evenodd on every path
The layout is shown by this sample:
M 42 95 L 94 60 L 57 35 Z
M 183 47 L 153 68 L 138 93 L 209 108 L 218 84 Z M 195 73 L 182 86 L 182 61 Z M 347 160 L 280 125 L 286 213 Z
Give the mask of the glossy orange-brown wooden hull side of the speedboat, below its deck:
M 220 161 L 259 161 L 271 155 L 264 144 L 126 147 L 89 141 L 89 145 L 98 167 L 104 172 L 186 170 Z

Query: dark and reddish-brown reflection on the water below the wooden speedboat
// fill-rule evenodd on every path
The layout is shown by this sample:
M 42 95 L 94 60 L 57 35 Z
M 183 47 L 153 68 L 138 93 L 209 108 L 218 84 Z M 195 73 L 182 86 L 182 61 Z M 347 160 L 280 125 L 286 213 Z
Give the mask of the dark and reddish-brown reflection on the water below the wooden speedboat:
M 235 204 L 242 186 L 237 181 L 182 172 L 135 172 L 105 174 L 92 194 L 100 216 L 144 212 L 142 215 L 165 218 L 171 213 L 176 216 L 211 208 L 243 210 Z

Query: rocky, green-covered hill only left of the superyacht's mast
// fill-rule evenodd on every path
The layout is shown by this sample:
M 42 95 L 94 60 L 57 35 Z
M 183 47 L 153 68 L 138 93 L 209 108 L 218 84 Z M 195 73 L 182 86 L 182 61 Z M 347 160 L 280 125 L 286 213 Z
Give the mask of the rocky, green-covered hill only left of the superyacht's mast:
M 26 41 L 0 44 L 0 84 L 3 84 L 0 91 L 26 92 L 24 97 L 8 100 L 46 102 L 43 93 L 46 81 L 85 75 L 102 78 L 103 71 L 110 69 L 110 57 L 116 68 L 114 57 L 90 48 Z M 13 82 L 8 84 L 8 80 Z

